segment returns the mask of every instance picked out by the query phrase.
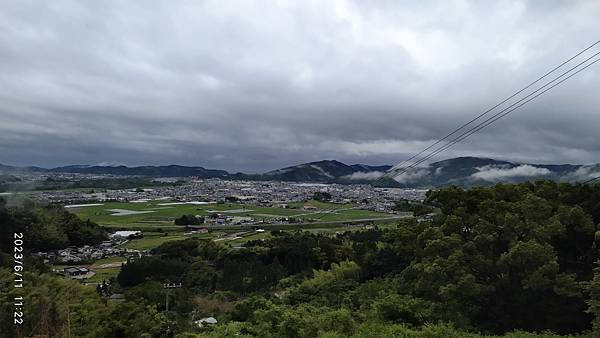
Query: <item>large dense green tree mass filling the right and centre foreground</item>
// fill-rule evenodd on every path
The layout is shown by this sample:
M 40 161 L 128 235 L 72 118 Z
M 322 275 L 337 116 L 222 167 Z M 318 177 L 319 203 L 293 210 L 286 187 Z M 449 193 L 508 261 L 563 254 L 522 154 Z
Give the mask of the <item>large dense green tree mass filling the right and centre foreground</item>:
M 166 278 L 197 294 L 229 292 L 246 300 L 214 314 L 248 323 L 244 330 L 256 336 L 275 330 L 256 329 L 266 321 L 258 316 L 263 307 L 301 318 L 347 311 L 351 328 L 365 322 L 450 323 L 490 334 L 592 328 L 600 312 L 600 292 L 590 292 L 600 279 L 594 279 L 599 186 L 450 187 L 430 192 L 426 204 L 441 211 L 433 221 L 392 229 L 334 237 L 276 233 L 237 251 L 193 240 L 168 243 L 126 266 L 119 281 Z M 173 273 L 153 273 L 158 261 Z

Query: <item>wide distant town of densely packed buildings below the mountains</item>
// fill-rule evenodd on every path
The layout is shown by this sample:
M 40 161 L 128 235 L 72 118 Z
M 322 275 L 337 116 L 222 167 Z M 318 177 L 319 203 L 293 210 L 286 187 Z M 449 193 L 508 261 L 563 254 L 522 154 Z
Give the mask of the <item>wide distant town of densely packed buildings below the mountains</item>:
M 375 188 L 367 184 L 319 184 L 280 181 L 237 181 L 221 179 L 185 179 L 184 184 L 158 186 L 152 189 L 120 189 L 94 191 L 44 191 L 35 198 L 56 203 L 87 201 L 138 201 L 169 199 L 179 201 L 223 201 L 277 207 L 305 201 L 316 192 L 328 192 L 332 202 L 359 203 L 364 209 L 391 212 L 398 199 L 422 201 L 426 190 Z

